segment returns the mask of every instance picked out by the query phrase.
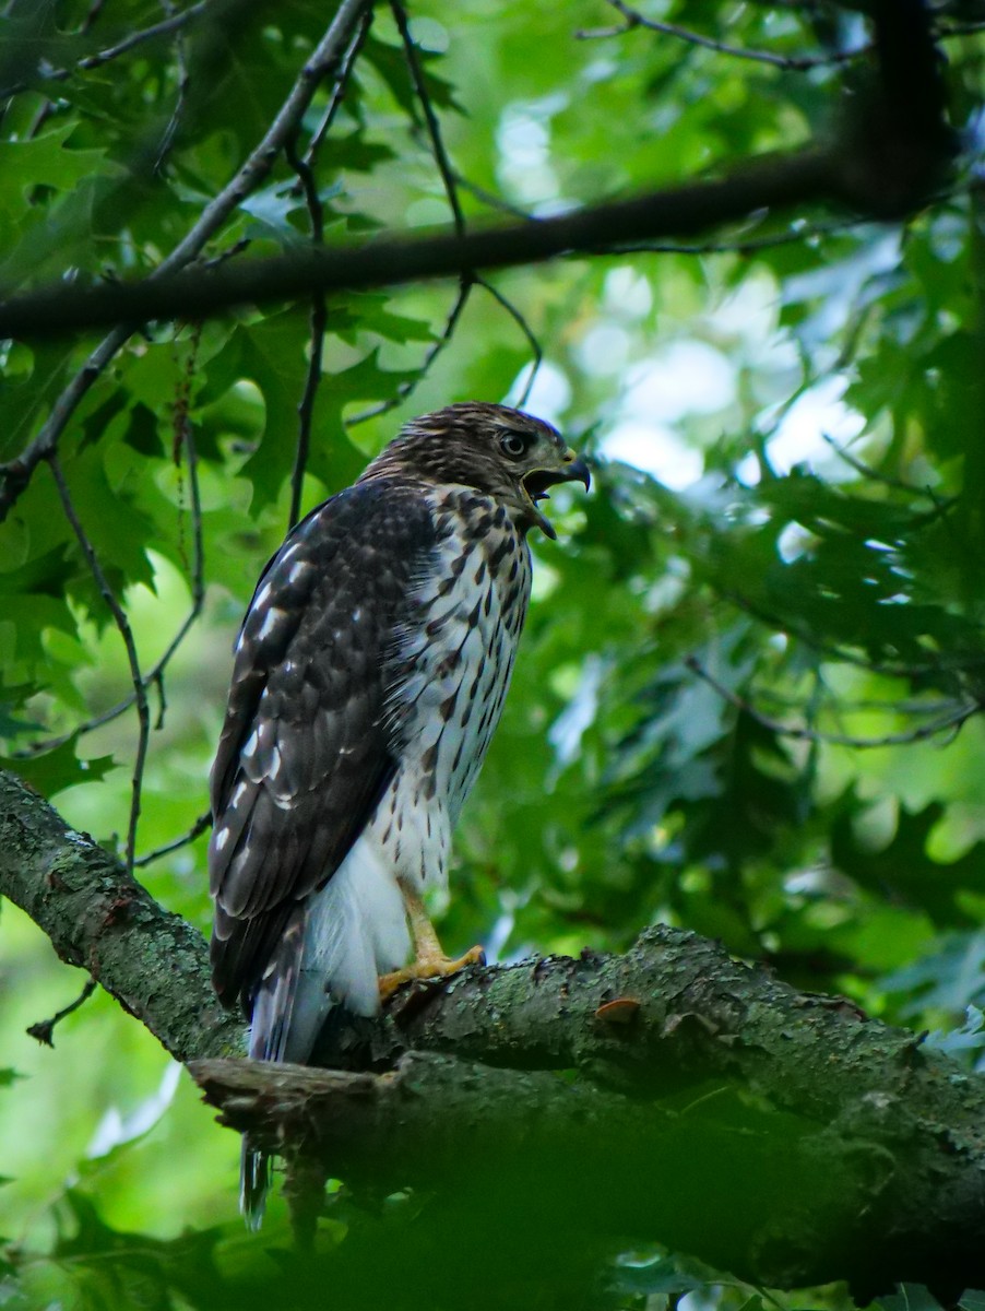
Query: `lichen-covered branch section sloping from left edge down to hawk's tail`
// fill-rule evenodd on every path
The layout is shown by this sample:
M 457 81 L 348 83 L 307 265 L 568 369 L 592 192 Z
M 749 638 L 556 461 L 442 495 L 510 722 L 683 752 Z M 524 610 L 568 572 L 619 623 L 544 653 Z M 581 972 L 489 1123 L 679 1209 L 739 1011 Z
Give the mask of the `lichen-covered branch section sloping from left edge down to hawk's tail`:
M 202 935 L 3 771 L 0 893 L 48 935 L 63 961 L 89 970 L 177 1061 L 241 1049 L 242 1025 L 216 1000 Z

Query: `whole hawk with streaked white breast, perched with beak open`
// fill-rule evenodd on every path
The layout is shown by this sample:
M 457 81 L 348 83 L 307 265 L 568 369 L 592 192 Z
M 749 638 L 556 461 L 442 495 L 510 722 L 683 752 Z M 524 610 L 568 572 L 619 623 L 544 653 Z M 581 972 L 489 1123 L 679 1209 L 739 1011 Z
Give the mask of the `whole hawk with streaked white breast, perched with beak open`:
M 212 970 L 250 1057 L 305 1062 L 334 1004 L 448 960 L 422 905 L 499 722 L 548 488 L 588 468 L 549 423 L 469 402 L 409 422 L 292 530 L 236 642 L 211 775 Z M 409 957 L 413 961 L 407 965 Z M 382 975 L 382 978 L 381 978 Z M 267 1164 L 245 1148 L 259 1223 Z

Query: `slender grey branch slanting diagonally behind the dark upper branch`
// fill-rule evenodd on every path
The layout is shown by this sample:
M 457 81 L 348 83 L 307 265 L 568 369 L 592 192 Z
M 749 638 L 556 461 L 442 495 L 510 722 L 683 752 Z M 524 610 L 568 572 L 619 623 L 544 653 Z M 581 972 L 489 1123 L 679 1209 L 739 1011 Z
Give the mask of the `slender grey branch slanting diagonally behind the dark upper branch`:
M 206 244 L 219 232 L 236 207 L 258 187 L 276 161 L 284 142 L 297 130 L 305 110 L 312 102 L 321 80 L 331 72 L 344 47 L 351 41 L 354 28 L 362 21 L 371 0 L 342 0 L 335 17 L 318 42 L 310 59 L 295 80 L 274 122 L 263 134 L 244 164 L 202 211 L 191 231 L 178 243 L 170 254 L 153 270 L 148 281 L 153 282 L 186 267 L 204 249 Z M 185 10 L 186 13 L 189 10 Z M 158 25 L 160 26 L 160 25 Z M 96 379 L 109 366 L 117 351 L 132 333 L 132 316 L 114 326 L 103 341 L 89 355 L 81 371 L 72 379 L 52 406 L 47 422 L 37 437 L 25 447 L 20 456 L 9 464 L 0 465 L 4 479 L 0 489 L 0 523 L 30 482 L 34 469 L 55 450 L 65 425 Z M 198 317 L 198 316 L 189 316 Z M 138 319 L 136 321 L 145 321 Z

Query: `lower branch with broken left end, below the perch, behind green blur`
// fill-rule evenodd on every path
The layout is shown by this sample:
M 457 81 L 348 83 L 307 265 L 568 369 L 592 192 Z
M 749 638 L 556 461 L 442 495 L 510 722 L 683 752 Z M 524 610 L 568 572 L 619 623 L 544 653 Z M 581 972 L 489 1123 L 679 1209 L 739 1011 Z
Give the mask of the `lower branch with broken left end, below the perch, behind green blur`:
M 668 1066 L 688 1041 L 668 1040 Z M 963 1078 L 948 1062 L 927 1068 Z M 977 1126 L 969 1114 L 955 1134 L 893 1092 L 859 1088 L 828 1122 L 728 1079 L 642 1099 L 423 1053 L 382 1075 L 242 1061 L 191 1072 L 224 1124 L 283 1152 L 309 1186 L 320 1165 L 373 1193 L 434 1190 L 466 1260 L 492 1222 L 500 1249 L 549 1232 L 548 1276 L 585 1245 L 656 1238 L 754 1282 L 847 1280 L 863 1299 L 904 1280 L 952 1301 L 985 1278 Z M 897 1067 L 888 1086 L 900 1084 Z

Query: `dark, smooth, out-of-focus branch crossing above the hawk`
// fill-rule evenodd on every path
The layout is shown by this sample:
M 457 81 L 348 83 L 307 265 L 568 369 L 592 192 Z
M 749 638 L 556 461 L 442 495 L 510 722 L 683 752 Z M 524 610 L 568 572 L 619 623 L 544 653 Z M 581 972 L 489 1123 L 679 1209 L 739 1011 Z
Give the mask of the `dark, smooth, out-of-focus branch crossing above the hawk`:
M 343 0 L 333 28 L 348 20 L 346 41 L 362 10 Z M 195 229 L 156 270 L 136 283 L 98 287 L 56 284 L 0 303 L 0 337 L 50 336 L 77 328 L 206 319 L 244 303 L 263 304 L 312 291 L 394 286 L 422 278 L 472 277 L 481 269 L 537 264 L 571 252 L 597 253 L 627 243 L 705 232 L 754 210 L 820 201 L 850 205 L 874 218 L 901 216 L 922 205 L 946 169 L 954 139 L 944 117 L 944 85 L 925 0 L 875 0 L 872 5 L 879 77 L 859 96 L 854 118 L 827 147 L 747 161 L 731 176 L 599 205 L 575 214 L 486 232 L 419 240 L 384 240 L 368 246 L 309 250 L 248 265 L 190 273 L 187 262 L 200 231 L 217 222 L 251 189 L 253 163 L 241 169 L 202 214 Z M 327 38 L 326 38 L 327 42 Z M 339 46 L 330 46 L 337 58 Z M 279 148 L 284 122 L 296 123 L 295 102 L 310 97 L 324 76 L 322 49 L 305 67 L 263 146 Z M 270 155 L 251 156 L 269 168 Z M 443 173 L 448 169 L 443 166 Z M 220 216 L 221 215 L 221 216 Z M 189 248 L 189 249 L 186 249 Z

